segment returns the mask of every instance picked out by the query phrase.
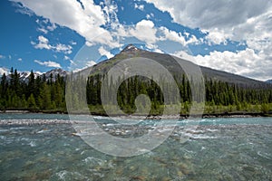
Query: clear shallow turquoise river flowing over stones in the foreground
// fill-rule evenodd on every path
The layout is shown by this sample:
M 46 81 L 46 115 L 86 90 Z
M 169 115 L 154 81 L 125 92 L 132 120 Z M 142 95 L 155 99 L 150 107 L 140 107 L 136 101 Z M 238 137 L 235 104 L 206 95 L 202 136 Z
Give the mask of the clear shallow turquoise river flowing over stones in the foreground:
M 30 120 L 34 124 L 23 124 Z M 160 147 L 135 157 L 88 146 L 73 135 L 67 115 L 1 114 L 6 121 L 0 124 L 0 180 L 272 180 L 271 118 L 202 119 L 190 131 L 184 130 L 189 121 L 180 120 Z

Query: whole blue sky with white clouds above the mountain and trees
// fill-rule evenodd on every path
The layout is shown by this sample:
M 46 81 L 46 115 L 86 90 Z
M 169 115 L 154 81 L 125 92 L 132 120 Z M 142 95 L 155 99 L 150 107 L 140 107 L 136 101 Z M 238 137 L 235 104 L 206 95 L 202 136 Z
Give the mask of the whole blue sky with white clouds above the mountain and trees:
M 81 70 L 129 43 L 272 79 L 271 0 L 2 0 L 0 74 Z

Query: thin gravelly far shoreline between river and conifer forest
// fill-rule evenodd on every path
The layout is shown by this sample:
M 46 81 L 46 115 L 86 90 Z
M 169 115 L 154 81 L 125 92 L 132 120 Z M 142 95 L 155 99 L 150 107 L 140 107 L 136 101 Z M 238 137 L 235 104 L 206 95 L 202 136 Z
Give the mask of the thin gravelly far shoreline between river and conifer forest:
M 2 112 L 0 111 L 0 116 L 1 115 L 5 115 L 5 114 L 48 114 L 48 115 L 53 115 L 53 113 L 48 113 L 48 112 L 31 112 L 31 111 L 26 111 L 26 110 L 8 110 Z M 63 116 L 67 116 L 67 118 L 69 117 L 69 115 L 66 113 L 54 113 L 54 114 L 58 114 L 58 115 L 63 115 Z M 65 119 L 65 118 L 61 118 L 61 119 L 29 119 L 29 118 L 25 118 L 22 117 L 22 119 L 0 119 L 0 127 L 1 126 L 33 126 L 33 125 L 63 125 L 63 124 L 71 124 L 71 125 L 76 125 L 79 123 L 85 123 L 85 124 L 92 124 L 93 121 L 89 121 L 86 120 L 84 121 L 83 119 L 81 119 L 80 117 L 77 119 L 76 116 L 92 116 L 94 117 L 93 119 L 95 119 L 95 121 L 97 119 L 110 119 L 109 116 L 105 116 L 105 115 L 91 115 L 91 114 L 70 114 L 72 116 L 75 116 L 74 119 Z M 212 118 L 265 118 L 265 117 L 269 117 L 272 118 L 272 114 L 269 112 L 269 114 L 264 114 L 264 113 L 249 113 L 249 112 L 232 112 L 232 113 L 219 113 L 219 114 L 202 114 L 202 115 L 164 115 L 164 116 L 160 116 L 160 115 L 149 115 L 149 116 L 142 116 L 142 115 L 129 115 L 129 116 L 123 116 L 123 115 L 112 115 L 112 119 L 114 119 L 115 121 L 118 121 L 118 119 L 127 119 L 127 120 L 151 120 L 151 119 L 157 119 L 160 121 L 161 120 L 170 120 L 170 119 L 179 119 L 181 120 L 186 120 L 186 119 L 212 119 Z

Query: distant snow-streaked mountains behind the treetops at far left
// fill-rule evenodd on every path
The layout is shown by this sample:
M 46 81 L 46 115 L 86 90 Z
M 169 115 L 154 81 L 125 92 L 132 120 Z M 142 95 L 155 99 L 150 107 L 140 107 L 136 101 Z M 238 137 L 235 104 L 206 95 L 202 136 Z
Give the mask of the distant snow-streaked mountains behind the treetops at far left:
M 29 76 L 30 76 L 30 71 L 23 71 L 23 72 L 19 72 L 20 74 L 20 81 L 25 81 L 28 82 L 29 81 Z M 51 71 L 47 71 L 45 73 L 41 73 L 41 72 L 34 72 L 34 78 L 37 78 L 38 76 L 40 76 L 41 78 L 43 78 L 45 76 L 45 80 L 48 81 L 51 78 L 51 74 L 52 74 L 52 81 L 55 81 L 56 76 L 59 74 L 61 77 L 65 77 L 67 75 L 67 71 L 64 71 L 62 69 L 53 69 Z M 9 81 L 11 80 L 11 74 L 8 74 L 6 76 L 6 80 Z

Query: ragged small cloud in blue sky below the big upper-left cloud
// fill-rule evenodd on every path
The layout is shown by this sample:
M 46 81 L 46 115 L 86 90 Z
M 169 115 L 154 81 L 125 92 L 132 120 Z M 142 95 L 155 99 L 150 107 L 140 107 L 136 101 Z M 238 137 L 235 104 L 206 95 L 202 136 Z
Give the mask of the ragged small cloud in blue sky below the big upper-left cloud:
M 66 45 L 62 43 L 57 43 L 56 45 L 51 45 L 47 38 L 43 35 L 38 36 L 38 43 L 31 42 L 36 49 L 46 49 L 53 50 L 55 52 L 63 52 L 65 54 L 72 53 L 73 47 L 71 45 Z

